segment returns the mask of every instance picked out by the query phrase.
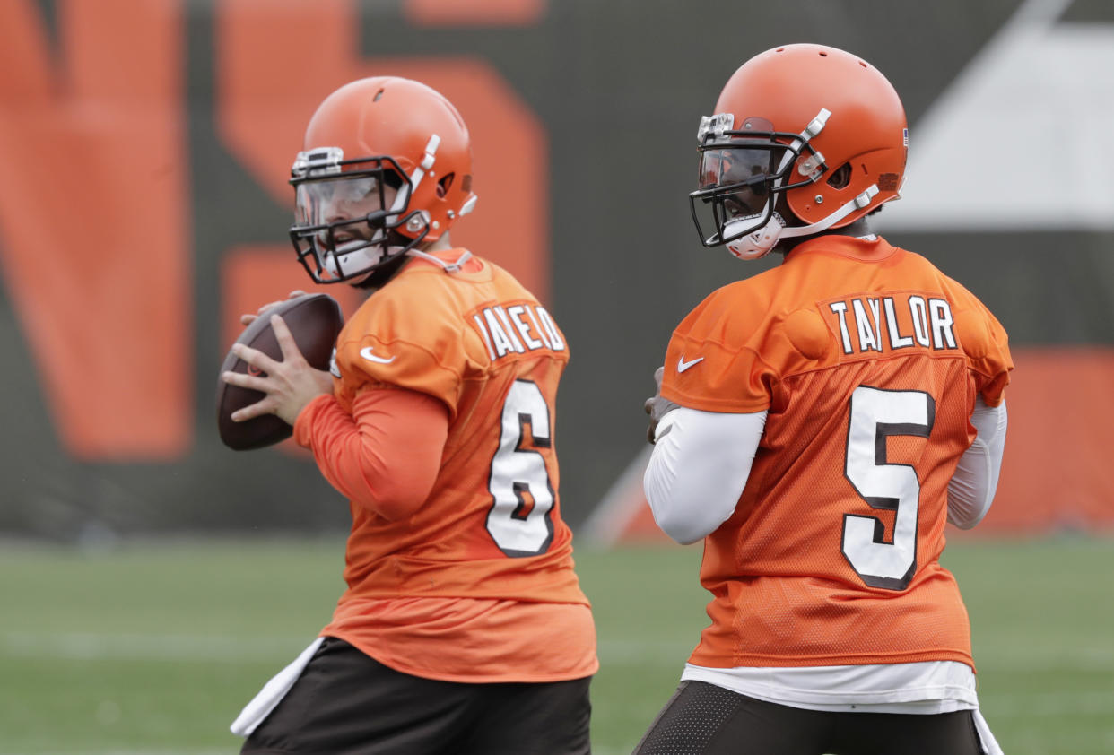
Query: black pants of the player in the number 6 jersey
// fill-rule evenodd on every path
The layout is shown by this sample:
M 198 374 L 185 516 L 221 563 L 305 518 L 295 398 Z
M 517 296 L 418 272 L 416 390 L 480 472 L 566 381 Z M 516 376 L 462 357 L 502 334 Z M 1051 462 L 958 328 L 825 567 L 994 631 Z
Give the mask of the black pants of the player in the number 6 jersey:
M 328 637 L 241 753 L 588 755 L 589 682 L 423 679 Z

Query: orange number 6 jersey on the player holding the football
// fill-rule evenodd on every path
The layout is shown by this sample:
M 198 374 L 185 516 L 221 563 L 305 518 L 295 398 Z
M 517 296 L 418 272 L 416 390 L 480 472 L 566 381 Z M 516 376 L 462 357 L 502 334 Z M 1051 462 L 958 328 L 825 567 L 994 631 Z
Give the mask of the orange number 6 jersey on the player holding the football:
M 351 413 L 367 391 L 407 389 L 442 402 L 449 428 L 432 490 L 412 514 L 391 520 L 350 503 L 348 590 L 323 634 L 447 680 L 596 670 L 557 494 L 554 410 L 567 361 L 549 313 L 475 257 L 451 274 L 411 261 L 349 320 L 336 342 L 340 410 Z M 326 424 L 313 424 L 307 444 Z

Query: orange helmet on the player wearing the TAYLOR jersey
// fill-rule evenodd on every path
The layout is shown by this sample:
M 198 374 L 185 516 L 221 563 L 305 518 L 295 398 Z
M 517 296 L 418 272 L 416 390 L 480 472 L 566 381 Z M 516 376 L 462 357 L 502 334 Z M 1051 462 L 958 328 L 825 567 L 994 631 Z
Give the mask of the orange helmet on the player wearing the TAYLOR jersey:
M 873 66 L 832 47 L 786 45 L 734 72 L 697 139 L 690 204 L 701 243 L 755 259 L 780 239 L 839 228 L 899 198 L 909 129 Z M 779 212 L 786 207 L 795 217 Z

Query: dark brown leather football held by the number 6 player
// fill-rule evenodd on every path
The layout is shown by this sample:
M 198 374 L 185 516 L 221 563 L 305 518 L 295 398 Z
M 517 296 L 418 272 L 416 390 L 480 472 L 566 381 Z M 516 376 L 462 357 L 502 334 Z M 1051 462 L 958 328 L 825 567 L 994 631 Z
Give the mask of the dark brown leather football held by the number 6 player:
M 267 356 L 281 360 L 282 350 L 271 327 L 271 315 L 283 318 L 305 361 L 317 370 L 329 370 L 336 336 L 344 325 L 341 305 L 328 294 L 305 294 L 287 298 L 256 317 L 236 339 Z M 233 422 L 232 413 L 263 399 L 264 394 L 221 380 L 225 372 L 246 373 L 250 365 L 231 350 L 224 357 L 217 376 L 216 423 L 224 444 L 236 451 L 261 449 L 290 438 L 294 429 L 274 414 L 264 414 L 245 422 Z M 251 367 L 255 370 L 255 367 Z

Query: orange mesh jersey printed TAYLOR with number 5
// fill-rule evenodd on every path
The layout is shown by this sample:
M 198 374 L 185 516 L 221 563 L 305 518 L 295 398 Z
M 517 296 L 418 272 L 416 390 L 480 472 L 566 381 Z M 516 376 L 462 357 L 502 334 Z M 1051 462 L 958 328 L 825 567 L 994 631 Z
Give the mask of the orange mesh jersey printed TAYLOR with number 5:
M 822 236 L 710 295 L 665 364 L 671 401 L 769 412 L 739 504 L 705 540 L 712 625 L 691 663 L 974 667 L 938 561 L 947 487 L 976 394 L 998 405 L 1013 364 L 970 292 L 881 238 Z

